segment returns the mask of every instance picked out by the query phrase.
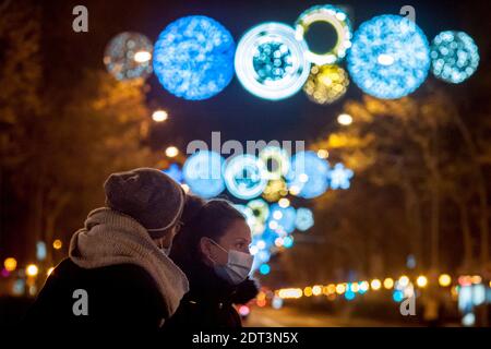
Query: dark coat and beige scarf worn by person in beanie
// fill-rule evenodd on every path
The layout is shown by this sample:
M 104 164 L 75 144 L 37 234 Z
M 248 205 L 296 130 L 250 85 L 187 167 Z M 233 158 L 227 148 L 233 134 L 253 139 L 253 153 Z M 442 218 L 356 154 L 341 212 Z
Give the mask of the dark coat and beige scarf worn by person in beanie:
M 86 294 L 86 314 L 80 300 Z M 75 232 L 70 258 L 50 274 L 24 325 L 73 329 L 157 329 L 179 306 L 185 275 L 137 221 L 109 208 Z

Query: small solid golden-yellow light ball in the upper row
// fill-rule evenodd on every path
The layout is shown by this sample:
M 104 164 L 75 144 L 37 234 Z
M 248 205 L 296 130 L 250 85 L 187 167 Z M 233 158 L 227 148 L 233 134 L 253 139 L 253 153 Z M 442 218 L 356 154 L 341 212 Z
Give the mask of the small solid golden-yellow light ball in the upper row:
M 313 65 L 310 75 L 303 85 L 303 92 L 310 100 L 327 105 L 338 100 L 346 94 L 349 77 L 346 71 L 338 65 Z

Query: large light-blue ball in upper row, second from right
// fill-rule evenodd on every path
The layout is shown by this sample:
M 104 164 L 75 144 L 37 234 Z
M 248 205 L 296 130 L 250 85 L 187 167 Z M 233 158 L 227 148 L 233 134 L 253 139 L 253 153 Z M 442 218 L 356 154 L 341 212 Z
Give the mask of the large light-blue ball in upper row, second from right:
M 424 82 L 429 69 L 428 39 L 410 20 L 384 14 L 355 32 L 348 71 L 364 93 L 383 99 L 407 96 Z

